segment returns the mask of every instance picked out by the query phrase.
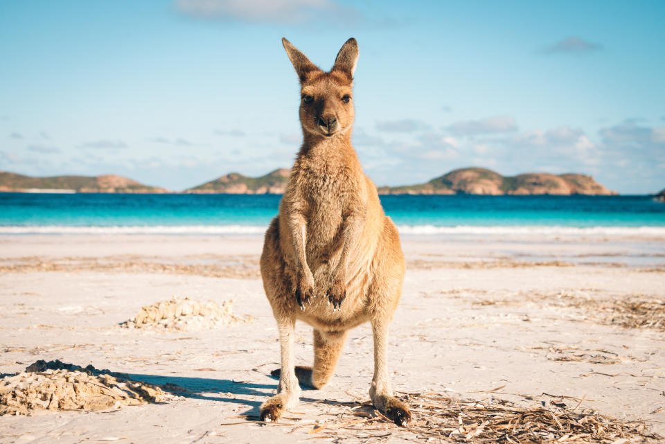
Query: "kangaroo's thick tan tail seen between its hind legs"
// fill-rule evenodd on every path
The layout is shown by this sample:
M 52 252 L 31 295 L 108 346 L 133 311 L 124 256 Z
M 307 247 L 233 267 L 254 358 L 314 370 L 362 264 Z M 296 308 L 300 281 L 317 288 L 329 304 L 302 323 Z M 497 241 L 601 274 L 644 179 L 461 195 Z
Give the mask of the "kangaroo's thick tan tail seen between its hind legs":
M 296 366 L 296 377 L 302 386 L 321 389 L 328 383 L 332 373 L 335 373 L 347 334 L 348 331 L 314 330 L 314 366 Z M 270 373 L 281 376 L 281 369 L 276 368 Z

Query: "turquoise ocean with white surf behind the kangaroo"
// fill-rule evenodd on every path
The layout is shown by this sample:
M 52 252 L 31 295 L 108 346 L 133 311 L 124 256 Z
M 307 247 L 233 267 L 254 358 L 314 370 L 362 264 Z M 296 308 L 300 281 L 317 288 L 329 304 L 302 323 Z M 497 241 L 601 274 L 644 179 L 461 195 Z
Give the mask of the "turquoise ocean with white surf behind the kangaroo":
M 0 233 L 260 234 L 280 195 L 0 193 Z M 650 196 L 386 195 L 405 234 L 645 233 L 665 236 Z

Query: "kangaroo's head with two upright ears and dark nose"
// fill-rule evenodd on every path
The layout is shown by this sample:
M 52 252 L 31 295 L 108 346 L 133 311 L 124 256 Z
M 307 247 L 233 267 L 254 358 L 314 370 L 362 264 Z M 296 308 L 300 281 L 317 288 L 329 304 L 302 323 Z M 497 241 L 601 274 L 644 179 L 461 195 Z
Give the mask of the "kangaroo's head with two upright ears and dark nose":
M 300 121 L 303 131 L 314 136 L 334 137 L 353 127 L 353 71 L 358 62 L 358 44 L 351 38 L 337 53 L 335 66 L 326 73 L 310 62 L 287 39 L 282 44 L 300 79 Z

